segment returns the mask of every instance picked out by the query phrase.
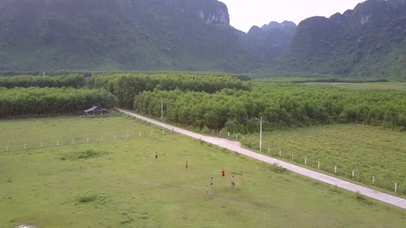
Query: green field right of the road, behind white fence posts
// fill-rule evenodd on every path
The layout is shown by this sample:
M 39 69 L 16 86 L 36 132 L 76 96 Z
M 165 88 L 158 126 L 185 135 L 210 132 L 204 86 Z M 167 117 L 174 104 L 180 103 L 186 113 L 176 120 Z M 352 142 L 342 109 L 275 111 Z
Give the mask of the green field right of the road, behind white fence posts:
M 244 145 L 258 150 L 259 137 L 248 135 Z M 282 130 L 263 135 L 264 153 L 406 195 L 406 133 L 362 124 L 333 124 Z M 352 177 L 354 170 L 354 178 Z

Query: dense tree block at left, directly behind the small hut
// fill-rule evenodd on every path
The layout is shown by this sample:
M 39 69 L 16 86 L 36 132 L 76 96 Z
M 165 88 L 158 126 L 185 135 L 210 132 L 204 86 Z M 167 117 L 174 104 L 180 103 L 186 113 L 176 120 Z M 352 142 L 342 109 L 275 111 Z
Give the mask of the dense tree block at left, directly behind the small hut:
M 113 107 L 117 100 L 105 89 L 0 88 L 0 116 L 78 113 L 93 105 Z

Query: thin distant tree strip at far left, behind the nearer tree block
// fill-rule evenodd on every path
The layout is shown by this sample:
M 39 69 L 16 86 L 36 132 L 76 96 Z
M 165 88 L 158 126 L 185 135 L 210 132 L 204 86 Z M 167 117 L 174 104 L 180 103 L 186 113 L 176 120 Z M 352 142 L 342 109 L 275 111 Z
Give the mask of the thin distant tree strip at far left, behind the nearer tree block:
M 8 76 L 0 77 L 0 87 L 85 87 L 85 77 L 78 74 L 65 76 Z

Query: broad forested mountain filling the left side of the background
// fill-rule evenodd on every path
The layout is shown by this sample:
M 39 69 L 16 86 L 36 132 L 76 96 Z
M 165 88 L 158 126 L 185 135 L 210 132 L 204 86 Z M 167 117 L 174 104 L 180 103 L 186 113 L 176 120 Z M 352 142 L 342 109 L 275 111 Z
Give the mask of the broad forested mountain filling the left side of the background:
M 216 0 L 15 0 L 0 15 L 0 70 L 255 65 Z

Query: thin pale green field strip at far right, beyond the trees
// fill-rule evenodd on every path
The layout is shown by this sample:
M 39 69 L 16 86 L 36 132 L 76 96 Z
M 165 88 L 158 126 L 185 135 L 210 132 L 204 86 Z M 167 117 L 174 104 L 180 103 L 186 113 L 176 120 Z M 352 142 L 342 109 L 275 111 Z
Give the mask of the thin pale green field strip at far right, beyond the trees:
M 406 91 L 406 82 L 365 82 L 365 83 L 342 83 L 342 82 L 308 82 L 308 85 L 321 87 L 339 87 L 348 89 L 381 89 Z

